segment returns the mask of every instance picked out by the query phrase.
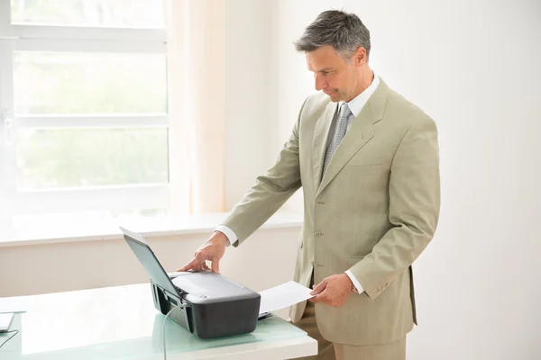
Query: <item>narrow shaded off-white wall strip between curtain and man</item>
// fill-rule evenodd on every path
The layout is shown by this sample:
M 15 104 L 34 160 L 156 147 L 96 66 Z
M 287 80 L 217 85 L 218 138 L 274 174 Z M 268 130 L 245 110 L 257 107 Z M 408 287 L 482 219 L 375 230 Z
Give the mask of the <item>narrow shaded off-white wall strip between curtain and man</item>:
M 225 4 L 225 207 L 230 210 L 275 160 L 272 2 Z

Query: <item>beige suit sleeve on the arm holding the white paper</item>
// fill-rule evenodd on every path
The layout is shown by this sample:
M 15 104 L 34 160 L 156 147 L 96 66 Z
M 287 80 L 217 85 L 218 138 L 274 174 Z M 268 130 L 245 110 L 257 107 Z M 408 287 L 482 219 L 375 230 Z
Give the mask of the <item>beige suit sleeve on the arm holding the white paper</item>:
M 371 299 L 411 266 L 436 232 L 438 152 L 436 123 L 429 118 L 410 127 L 400 142 L 390 166 L 389 220 L 393 227 L 350 269 Z

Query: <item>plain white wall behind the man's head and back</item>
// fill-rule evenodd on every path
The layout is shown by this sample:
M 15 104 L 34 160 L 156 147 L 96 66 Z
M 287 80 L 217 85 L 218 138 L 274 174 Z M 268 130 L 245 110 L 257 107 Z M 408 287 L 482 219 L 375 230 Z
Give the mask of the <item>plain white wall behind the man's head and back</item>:
M 408 359 L 541 358 L 541 2 L 279 1 L 282 137 L 313 91 L 291 42 L 328 8 L 361 17 L 372 67 L 439 128 L 441 221 L 415 265 Z

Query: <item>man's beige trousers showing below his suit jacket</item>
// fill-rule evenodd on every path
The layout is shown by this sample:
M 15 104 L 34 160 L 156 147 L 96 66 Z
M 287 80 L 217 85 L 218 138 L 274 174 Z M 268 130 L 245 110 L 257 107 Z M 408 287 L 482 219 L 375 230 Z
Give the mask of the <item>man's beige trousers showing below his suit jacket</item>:
M 312 287 L 312 284 L 310 284 Z M 316 324 L 316 308 L 307 302 L 302 318 L 295 324 L 317 340 L 317 355 L 306 356 L 304 360 L 406 360 L 406 338 L 389 344 L 355 347 L 333 344 L 321 336 Z

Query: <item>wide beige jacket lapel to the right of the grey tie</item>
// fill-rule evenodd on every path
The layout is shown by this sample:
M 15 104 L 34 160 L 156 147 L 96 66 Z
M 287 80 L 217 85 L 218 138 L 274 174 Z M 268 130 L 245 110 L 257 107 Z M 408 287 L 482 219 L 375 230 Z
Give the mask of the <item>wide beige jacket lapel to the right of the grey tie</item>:
M 349 159 L 352 158 L 353 155 L 355 155 L 374 136 L 373 124 L 380 121 L 383 117 L 383 110 L 385 108 L 385 102 L 387 101 L 388 94 L 389 88 L 381 79 L 380 85 L 374 94 L 371 95 L 371 98 L 364 105 L 364 107 L 362 107 L 361 113 L 355 118 L 352 127 L 347 131 L 344 139 L 342 139 L 342 142 L 340 143 L 340 146 L 336 149 L 335 155 L 331 159 L 323 179 L 321 179 L 321 184 L 316 182 L 316 184 L 318 184 L 318 187 L 316 186 L 316 196 L 321 193 L 323 189 L 325 189 L 326 185 L 329 184 L 331 180 L 335 178 Z M 316 136 L 314 139 L 316 139 Z M 325 148 L 326 142 L 324 145 L 323 154 L 325 154 Z M 320 149 L 315 148 L 315 150 L 319 151 Z M 321 169 L 323 168 L 324 156 L 321 157 L 321 164 L 317 168 L 319 172 L 315 173 L 315 176 L 318 176 L 319 178 L 321 178 Z

